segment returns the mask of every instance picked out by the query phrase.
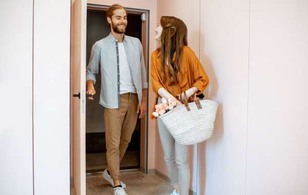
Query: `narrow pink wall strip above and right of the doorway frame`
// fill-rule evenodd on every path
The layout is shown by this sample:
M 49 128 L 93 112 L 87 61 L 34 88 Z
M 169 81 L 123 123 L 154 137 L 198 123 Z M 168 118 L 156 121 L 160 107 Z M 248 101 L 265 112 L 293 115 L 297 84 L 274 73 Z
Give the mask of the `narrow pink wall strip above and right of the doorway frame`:
M 113 4 L 120 4 L 123 7 L 127 8 L 137 8 L 137 9 L 146 9 L 150 10 L 150 34 L 149 34 L 149 52 L 156 49 L 156 42 L 152 41 L 153 37 L 155 37 L 154 29 L 157 25 L 157 3 L 154 1 L 142 1 L 142 0 L 130 0 L 130 1 L 108 1 L 108 0 L 88 0 L 89 4 L 97 4 L 97 5 L 107 5 L 111 6 Z M 150 60 L 149 60 L 150 63 Z M 150 68 L 149 68 L 150 69 Z M 155 101 L 155 94 L 152 92 L 152 85 L 149 81 L 149 116 L 151 114 L 151 108 Z M 156 124 L 154 120 L 148 120 L 148 169 L 155 168 L 155 146 L 156 146 Z

